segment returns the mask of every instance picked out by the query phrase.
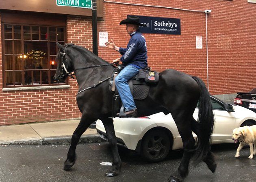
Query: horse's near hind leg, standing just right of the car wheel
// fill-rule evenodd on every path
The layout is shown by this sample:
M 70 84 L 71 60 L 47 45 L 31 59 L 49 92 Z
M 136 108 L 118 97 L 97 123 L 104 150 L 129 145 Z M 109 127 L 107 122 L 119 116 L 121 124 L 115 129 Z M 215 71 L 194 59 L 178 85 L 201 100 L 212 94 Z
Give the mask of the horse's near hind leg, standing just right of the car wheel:
M 191 119 L 188 119 L 188 117 L 186 116 L 188 114 L 185 113 L 186 112 L 180 112 L 177 115 L 172 114 L 180 136 L 182 138 L 184 152 L 178 170 L 174 174 L 171 174 L 168 182 L 182 182 L 184 178 L 186 178 L 189 174 L 189 161 L 191 156 L 193 155 L 195 139 L 192 135 L 190 122 Z M 192 117 L 192 114 L 190 115 L 190 117 Z

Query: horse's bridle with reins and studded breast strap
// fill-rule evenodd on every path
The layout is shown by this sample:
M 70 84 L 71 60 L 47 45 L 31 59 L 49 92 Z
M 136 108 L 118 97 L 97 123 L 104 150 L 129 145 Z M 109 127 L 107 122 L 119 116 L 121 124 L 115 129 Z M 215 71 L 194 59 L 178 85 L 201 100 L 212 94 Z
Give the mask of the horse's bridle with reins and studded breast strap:
M 69 44 L 67 44 L 67 46 L 69 46 Z M 92 66 L 87 66 L 87 67 L 82 67 L 82 68 L 73 69 L 72 71 L 68 72 L 68 71 L 67 71 L 67 68 L 66 68 L 66 65 L 65 65 L 65 63 L 67 64 L 67 57 L 66 57 L 66 49 L 67 49 L 67 46 L 65 47 L 65 49 L 64 49 L 63 52 L 60 52 L 60 54 L 62 55 L 62 56 L 61 56 L 61 59 L 62 59 L 62 63 L 61 63 L 62 72 L 61 72 L 61 74 L 60 74 L 59 80 L 60 80 L 60 78 L 64 78 L 64 76 L 66 76 L 66 75 L 69 76 L 70 78 L 75 79 L 75 78 L 73 77 L 73 75 L 75 75 L 75 74 L 70 74 L 70 73 L 75 72 L 75 71 L 78 70 L 78 69 L 87 69 L 87 68 L 92 68 L 92 67 L 101 67 L 101 66 L 109 66 L 109 65 L 114 66 L 114 65 L 115 65 L 114 63 L 108 63 L 108 64 L 102 64 L 102 65 L 92 65 Z M 115 66 L 114 66 L 114 67 L 115 67 Z M 65 74 L 63 74 L 63 72 L 65 72 Z M 108 79 L 110 79 L 110 78 L 112 78 L 112 76 L 110 76 L 110 77 L 108 77 L 108 78 L 105 78 L 104 80 L 100 80 L 100 81 L 98 81 L 96 84 L 93 84 L 91 87 L 87 87 L 86 89 L 83 89 L 83 90 L 79 91 L 76 95 L 78 95 L 79 93 L 81 93 L 81 92 L 83 92 L 83 91 L 86 91 L 86 90 L 88 90 L 88 89 L 91 89 L 91 88 L 93 88 L 93 87 L 96 87 L 96 86 L 98 86 L 99 84 L 101 84 L 102 82 L 105 82 L 106 80 L 108 80 Z

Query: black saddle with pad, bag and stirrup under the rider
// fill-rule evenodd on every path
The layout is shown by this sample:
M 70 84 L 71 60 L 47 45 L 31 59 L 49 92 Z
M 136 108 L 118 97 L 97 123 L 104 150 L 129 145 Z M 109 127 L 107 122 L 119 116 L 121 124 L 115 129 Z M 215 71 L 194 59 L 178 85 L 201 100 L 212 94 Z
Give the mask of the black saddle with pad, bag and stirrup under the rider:
M 110 85 L 109 89 L 114 93 L 113 95 L 113 116 L 116 113 L 122 114 L 124 108 L 121 104 L 118 91 L 115 87 L 115 77 L 123 69 L 122 65 L 118 65 L 112 73 L 112 78 L 108 80 Z M 128 81 L 130 91 L 134 100 L 143 100 L 148 96 L 150 86 L 157 85 L 159 80 L 158 72 L 152 71 L 150 67 L 140 69 L 139 73 Z

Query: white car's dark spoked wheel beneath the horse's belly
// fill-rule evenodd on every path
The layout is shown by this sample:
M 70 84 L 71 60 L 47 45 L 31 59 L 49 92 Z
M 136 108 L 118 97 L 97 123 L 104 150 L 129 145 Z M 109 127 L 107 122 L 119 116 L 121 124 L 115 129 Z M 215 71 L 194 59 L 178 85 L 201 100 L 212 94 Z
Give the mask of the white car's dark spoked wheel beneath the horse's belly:
M 163 130 L 152 130 L 145 134 L 141 155 L 151 163 L 162 161 L 169 153 L 171 141 Z

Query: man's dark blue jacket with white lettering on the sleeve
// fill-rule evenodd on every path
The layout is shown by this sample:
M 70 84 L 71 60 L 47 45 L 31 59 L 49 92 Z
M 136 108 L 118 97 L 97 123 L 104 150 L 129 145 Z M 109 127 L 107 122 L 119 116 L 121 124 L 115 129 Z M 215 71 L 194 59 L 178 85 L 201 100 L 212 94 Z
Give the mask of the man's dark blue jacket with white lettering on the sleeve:
M 119 48 L 119 52 L 122 55 L 120 60 L 124 66 L 134 65 L 135 67 L 142 69 L 148 67 L 148 50 L 145 37 L 139 30 L 132 32 L 130 37 L 127 48 Z

